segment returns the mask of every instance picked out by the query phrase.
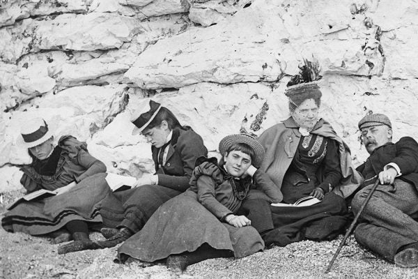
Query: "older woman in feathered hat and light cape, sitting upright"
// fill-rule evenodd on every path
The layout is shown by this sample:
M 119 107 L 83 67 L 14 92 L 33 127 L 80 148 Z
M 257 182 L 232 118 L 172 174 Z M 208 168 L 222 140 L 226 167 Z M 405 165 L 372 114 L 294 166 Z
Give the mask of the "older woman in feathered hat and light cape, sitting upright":
M 270 206 L 272 223 L 263 234 L 266 245 L 332 239 L 346 225 L 344 198 L 362 181 L 348 146 L 330 123 L 318 117 L 322 93 L 310 75 L 318 71 L 310 66 L 312 63 L 307 62 L 301 75 L 288 84 L 291 117 L 265 130 L 259 139 L 266 152 L 261 169 L 280 188 L 282 202 L 292 204 L 309 195 L 321 202 L 301 207 Z M 261 206 L 269 208 L 265 202 L 258 204 Z

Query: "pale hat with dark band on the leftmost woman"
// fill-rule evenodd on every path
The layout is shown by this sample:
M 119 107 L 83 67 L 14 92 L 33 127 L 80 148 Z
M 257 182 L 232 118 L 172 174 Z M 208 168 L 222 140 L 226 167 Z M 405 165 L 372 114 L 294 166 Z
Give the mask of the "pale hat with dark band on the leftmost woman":
M 51 130 L 49 130 L 45 120 L 36 117 L 25 121 L 20 129 L 22 134 L 22 144 L 26 148 L 31 148 L 42 144 L 52 137 Z

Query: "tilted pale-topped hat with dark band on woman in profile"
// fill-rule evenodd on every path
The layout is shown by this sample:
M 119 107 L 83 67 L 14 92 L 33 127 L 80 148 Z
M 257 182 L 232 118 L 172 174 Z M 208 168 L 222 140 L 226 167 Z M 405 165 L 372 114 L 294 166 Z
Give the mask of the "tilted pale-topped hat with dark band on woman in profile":
M 139 109 L 132 113 L 131 122 L 135 128 L 132 130 L 132 135 L 142 133 L 146 126 L 155 119 L 155 116 L 160 112 L 162 105 L 148 99 L 144 100 L 140 105 Z

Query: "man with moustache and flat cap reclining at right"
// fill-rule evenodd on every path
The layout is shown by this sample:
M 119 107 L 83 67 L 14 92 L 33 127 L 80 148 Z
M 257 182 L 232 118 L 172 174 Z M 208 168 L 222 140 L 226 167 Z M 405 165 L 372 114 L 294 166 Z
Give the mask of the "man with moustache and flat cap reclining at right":
M 360 216 L 355 239 L 397 266 L 418 266 L 418 144 L 412 137 L 393 143 L 385 114 L 365 116 L 359 130 L 370 156 L 357 167 L 364 188 L 353 199 L 354 213 L 376 179 L 379 185 Z

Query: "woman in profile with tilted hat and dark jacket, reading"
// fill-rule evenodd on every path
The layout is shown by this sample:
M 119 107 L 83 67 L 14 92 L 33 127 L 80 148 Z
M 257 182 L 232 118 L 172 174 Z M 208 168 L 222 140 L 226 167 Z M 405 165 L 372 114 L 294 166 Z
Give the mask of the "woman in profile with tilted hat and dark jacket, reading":
M 144 100 L 132 115 L 132 134 L 142 133 L 152 144 L 155 174 L 145 174 L 135 188 L 109 193 L 100 206 L 102 229 L 107 241 L 98 246 L 79 246 L 69 243 L 59 253 L 85 249 L 109 248 L 125 241 L 144 227 L 157 208 L 189 188 L 194 163 L 208 150 L 200 135 L 189 126 L 182 126 L 174 114 L 153 100 Z M 117 229 L 114 229 L 114 228 Z

